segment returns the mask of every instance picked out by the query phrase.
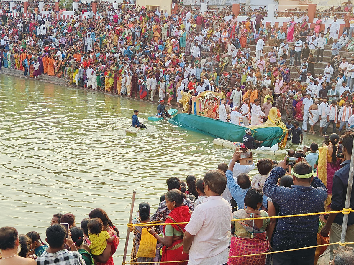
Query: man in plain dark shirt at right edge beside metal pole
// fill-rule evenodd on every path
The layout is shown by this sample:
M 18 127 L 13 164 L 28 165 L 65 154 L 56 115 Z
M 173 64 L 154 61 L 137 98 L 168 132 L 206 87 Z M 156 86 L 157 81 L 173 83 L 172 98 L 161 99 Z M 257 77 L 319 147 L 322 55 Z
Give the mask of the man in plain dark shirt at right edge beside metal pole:
M 342 168 L 337 170 L 333 176 L 332 188 L 332 203 L 330 211 L 343 210 L 346 203 L 350 159 L 352 158 L 352 149 L 354 141 L 354 133 L 344 133 L 340 141 L 342 142 L 344 162 L 341 164 Z M 341 143 L 339 142 L 339 143 Z M 338 152 L 339 152 L 338 143 Z M 354 189 L 350 197 L 350 206 L 354 209 Z M 338 242 L 341 240 L 343 225 L 343 213 L 330 213 L 325 226 L 321 229 L 322 236 L 330 235 L 330 243 Z M 354 241 L 354 212 L 348 214 L 348 226 L 346 233 L 346 242 Z M 333 259 L 333 250 L 339 247 L 338 244 L 330 245 L 330 259 Z

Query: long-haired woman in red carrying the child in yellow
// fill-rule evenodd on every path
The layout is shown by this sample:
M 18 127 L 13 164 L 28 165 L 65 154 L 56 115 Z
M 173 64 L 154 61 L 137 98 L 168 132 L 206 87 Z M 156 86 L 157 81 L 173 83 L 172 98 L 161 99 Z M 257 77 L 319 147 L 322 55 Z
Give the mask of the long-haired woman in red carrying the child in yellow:
M 112 243 L 107 242 L 107 247 L 104 249 L 103 253 L 99 256 L 92 256 L 95 259 L 95 265 L 114 265 L 113 255 L 119 244 L 119 231 L 112 224 L 112 221 L 108 218 L 107 213 L 102 209 L 92 210 L 89 214 L 90 219 L 99 218 L 102 220 L 103 228 L 108 231 L 110 236 L 113 236 L 113 232 L 117 232 L 117 237 Z

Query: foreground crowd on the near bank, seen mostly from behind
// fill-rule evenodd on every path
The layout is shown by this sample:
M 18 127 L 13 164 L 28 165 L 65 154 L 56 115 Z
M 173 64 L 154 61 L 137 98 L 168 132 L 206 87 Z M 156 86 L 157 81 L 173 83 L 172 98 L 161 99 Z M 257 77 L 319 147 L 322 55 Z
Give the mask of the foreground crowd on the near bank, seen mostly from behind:
M 313 142 L 303 151 L 290 149 L 282 161 L 259 159 L 258 173 L 252 180 L 248 173 L 256 165 L 240 163 L 240 148 L 236 148 L 229 164 L 219 164 L 203 178 L 188 175 L 185 182 L 175 176 L 168 178 L 166 193 L 161 195 L 154 214 L 149 202 L 137 204 L 138 218 L 130 229 L 134 235 L 132 261 L 181 265 L 316 264 L 327 246 L 308 247 L 337 243 L 341 238 L 343 213 L 331 211 L 344 208 L 353 141 L 354 130 L 348 129 L 341 137 L 332 134 L 320 148 Z M 338 144 L 342 145 L 341 151 Z M 289 158 L 294 158 L 292 163 L 287 162 Z M 353 206 L 354 190 L 350 199 Z M 269 218 L 325 209 L 325 214 Z M 255 217 L 263 219 L 244 220 Z M 346 242 L 354 241 L 353 227 L 354 212 L 350 212 Z M 156 246 L 150 245 L 144 228 L 156 238 Z M 0 264 L 113 265 L 118 244 L 119 230 L 104 210 L 92 210 L 80 227 L 76 226 L 74 214 L 57 213 L 42 236 L 36 231 L 18 234 L 11 226 L 0 228 Z M 146 251 L 147 246 L 153 255 L 139 254 L 139 249 Z M 330 264 L 351 265 L 354 248 L 338 246 L 329 246 Z M 281 252 L 297 248 L 304 249 Z M 254 255 L 259 253 L 265 254 Z M 239 257 L 242 255 L 248 256 Z

